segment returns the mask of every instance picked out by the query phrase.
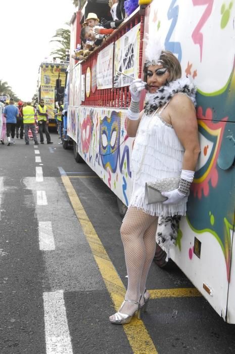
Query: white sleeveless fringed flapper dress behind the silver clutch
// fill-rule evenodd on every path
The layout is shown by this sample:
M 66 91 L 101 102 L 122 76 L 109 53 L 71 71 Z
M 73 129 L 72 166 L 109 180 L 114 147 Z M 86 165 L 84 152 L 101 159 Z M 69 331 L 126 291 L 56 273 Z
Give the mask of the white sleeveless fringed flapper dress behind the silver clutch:
M 165 105 L 166 106 L 166 105 Z M 150 215 L 185 215 L 186 201 L 178 204 L 145 203 L 145 184 L 165 178 L 180 177 L 184 148 L 173 127 L 161 117 L 161 112 L 143 115 L 134 141 L 131 160 L 132 195 L 130 206 Z

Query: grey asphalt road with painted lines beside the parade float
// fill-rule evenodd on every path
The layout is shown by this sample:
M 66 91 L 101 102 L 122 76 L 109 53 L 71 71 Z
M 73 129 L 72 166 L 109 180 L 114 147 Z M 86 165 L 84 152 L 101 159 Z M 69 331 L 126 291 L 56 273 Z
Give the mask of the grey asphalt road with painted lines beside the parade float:
M 109 322 L 110 289 L 118 276 L 127 283 L 116 197 L 52 141 L 0 146 L 0 353 L 234 353 L 235 326 L 202 296 L 153 298 L 140 327 Z M 193 285 L 175 265 L 152 264 L 148 289 L 184 288 Z

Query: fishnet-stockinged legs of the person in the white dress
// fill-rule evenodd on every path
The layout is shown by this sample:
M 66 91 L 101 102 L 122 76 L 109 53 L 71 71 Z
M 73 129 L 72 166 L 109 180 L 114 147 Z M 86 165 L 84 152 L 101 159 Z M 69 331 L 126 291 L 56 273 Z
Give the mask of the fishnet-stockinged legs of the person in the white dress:
M 128 287 L 126 299 L 139 301 L 144 294 L 146 279 L 156 249 L 157 216 L 146 214 L 143 210 L 130 207 L 121 226 L 124 246 Z M 143 304 L 144 300 L 140 304 Z M 132 315 L 137 305 L 125 302 L 120 309 L 123 314 Z

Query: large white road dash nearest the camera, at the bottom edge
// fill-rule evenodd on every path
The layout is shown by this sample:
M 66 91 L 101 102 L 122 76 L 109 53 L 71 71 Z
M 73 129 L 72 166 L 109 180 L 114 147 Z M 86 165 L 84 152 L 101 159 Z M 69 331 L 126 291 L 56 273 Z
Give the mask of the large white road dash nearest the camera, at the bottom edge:
M 43 293 L 46 354 L 73 354 L 62 290 Z

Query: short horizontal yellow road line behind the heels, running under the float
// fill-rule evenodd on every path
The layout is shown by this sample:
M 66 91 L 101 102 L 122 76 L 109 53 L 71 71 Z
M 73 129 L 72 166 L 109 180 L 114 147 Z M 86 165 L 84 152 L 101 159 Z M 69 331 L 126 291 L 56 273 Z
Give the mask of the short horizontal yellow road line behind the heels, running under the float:
M 179 289 L 154 289 L 149 290 L 151 299 L 162 297 L 196 297 L 202 294 L 196 288 L 179 288 Z

